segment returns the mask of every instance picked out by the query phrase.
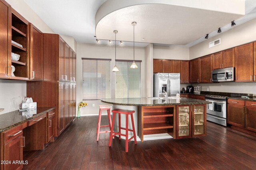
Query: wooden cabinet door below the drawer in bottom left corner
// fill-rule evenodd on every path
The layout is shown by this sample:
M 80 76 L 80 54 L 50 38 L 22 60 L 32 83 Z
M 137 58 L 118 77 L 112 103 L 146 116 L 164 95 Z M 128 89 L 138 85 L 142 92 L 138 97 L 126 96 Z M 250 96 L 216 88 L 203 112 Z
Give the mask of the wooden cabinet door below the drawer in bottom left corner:
M 4 170 L 21 170 L 23 168 L 23 136 L 4 145 Z

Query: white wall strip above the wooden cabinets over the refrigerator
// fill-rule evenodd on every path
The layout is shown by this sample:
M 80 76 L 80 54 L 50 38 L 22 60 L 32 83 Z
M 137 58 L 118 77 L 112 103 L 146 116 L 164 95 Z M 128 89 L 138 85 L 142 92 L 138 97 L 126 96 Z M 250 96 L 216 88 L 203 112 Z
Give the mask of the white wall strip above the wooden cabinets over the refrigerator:
M 154 59 L 189 60 L 189 47 L 153 45 Z

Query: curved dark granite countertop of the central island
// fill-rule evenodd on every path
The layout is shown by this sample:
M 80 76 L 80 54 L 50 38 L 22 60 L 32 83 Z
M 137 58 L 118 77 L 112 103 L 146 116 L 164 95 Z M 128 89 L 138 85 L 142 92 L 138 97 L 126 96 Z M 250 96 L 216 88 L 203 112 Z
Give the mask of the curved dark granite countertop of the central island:
M 124 98 L 124 99 L 101 99 L 103 103 L 125 105 L 125 106 L 171 106 L 171 105 L 187 105 L 187 104 L 208 104 L 205 100 L 196 100 L 190 98 L 176 99 L 159 99 L 151 100 L 149 98 Z

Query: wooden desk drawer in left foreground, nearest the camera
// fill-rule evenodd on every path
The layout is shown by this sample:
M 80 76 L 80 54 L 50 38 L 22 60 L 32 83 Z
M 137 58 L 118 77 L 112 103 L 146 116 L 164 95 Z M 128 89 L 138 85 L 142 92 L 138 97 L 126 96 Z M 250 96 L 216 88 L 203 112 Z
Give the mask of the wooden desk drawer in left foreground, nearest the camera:
M 16 137 L 19 137 L 22 134 L 23 134 L 22 125 L 13 127 L 12 129 L 9 129 L 8 131 L 4 131 L 3 132 L 4 144 L 14 140 Z

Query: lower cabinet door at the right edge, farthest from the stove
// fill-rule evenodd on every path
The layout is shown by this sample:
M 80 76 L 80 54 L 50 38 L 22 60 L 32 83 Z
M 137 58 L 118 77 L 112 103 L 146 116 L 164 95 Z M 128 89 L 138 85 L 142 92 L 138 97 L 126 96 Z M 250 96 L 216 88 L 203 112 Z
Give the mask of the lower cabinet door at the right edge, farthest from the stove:
M 256 108 L 245 108 L 245 128 L 256 132 Z

